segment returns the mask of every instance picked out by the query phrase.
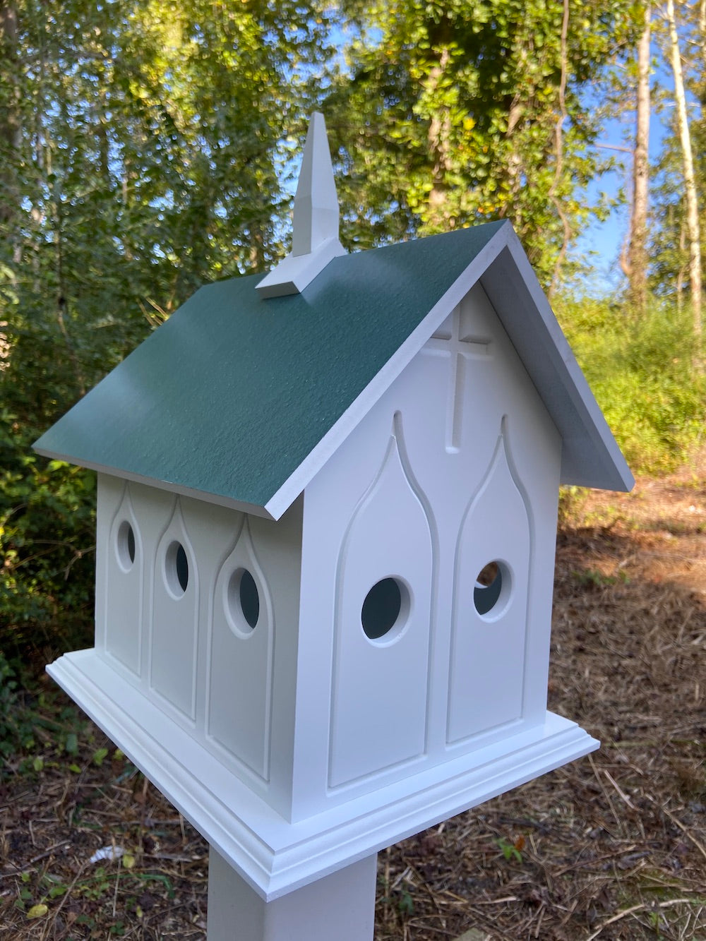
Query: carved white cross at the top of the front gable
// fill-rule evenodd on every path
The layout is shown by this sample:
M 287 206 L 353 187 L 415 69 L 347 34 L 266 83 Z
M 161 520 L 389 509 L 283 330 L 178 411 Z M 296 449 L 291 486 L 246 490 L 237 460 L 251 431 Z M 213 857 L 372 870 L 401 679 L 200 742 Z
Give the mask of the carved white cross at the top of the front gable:
M 459 304 L 425 343 L 425 353 L 449 360 L 449 391 L 446 403 L 446 450 L 460 448 L 463 398 L 471 359 L 488 359 L 491 342 L 473 328 L 473 310 Z

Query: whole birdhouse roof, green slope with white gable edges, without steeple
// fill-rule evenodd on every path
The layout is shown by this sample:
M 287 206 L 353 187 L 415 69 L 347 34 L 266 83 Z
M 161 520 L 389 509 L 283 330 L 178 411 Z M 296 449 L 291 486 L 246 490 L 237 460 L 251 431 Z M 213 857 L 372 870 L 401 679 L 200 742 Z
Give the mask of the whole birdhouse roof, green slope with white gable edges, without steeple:
M 334 258 L 297 295 L 262 298 L 257 275 L 203 287 L 35 448 L 279 518 L 481 277 L 564 438 L 564 482 L 629 488 L 507 222 Z

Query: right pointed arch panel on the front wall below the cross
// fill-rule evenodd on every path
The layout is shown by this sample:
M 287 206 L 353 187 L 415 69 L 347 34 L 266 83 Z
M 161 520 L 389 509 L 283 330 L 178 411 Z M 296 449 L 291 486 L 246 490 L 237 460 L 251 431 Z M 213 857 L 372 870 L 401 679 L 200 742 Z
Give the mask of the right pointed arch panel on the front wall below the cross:
M 535 542 L 503 417 L 489 467 L 458 532 L 446 740 L 463 742 L 522 716 L 527 605 Z M 476 578 L 497 563 L 502 579 L 496 604 L 480 613 Z

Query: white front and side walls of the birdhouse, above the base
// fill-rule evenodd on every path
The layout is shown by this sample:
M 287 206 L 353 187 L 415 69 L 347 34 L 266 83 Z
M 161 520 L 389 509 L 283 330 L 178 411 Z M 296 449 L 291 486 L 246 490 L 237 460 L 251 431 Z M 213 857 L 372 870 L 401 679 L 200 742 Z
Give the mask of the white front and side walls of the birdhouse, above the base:
M 96 646 L 286 819 L 441 768 L 544 721 L 560 450 L 477 285 L 279 522 L 101 476 Z

